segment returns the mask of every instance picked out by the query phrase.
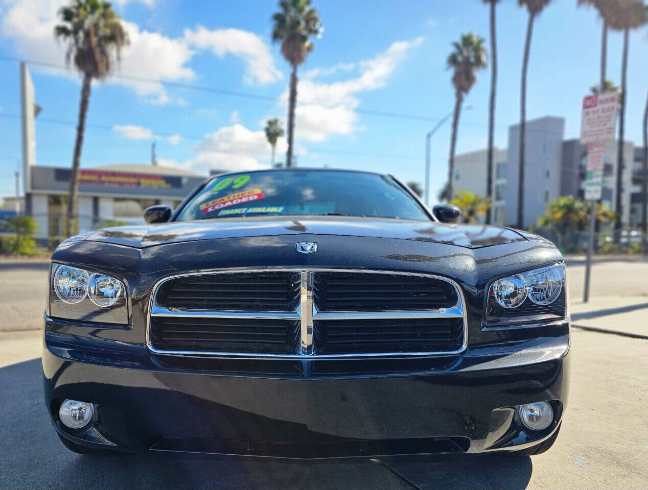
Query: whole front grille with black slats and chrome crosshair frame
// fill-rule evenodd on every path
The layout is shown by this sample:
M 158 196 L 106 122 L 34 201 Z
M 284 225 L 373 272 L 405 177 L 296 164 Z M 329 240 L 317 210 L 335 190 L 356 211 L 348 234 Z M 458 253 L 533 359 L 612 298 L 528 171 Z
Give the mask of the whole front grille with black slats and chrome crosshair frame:
M 241 285 L 240 291 L 232 284 Z M 154 287 L 149 311 L 148 347 L 170 355 L 447 355 L 467 345 L 461 290 L 428 274 L 337 269 L 181 274 Z

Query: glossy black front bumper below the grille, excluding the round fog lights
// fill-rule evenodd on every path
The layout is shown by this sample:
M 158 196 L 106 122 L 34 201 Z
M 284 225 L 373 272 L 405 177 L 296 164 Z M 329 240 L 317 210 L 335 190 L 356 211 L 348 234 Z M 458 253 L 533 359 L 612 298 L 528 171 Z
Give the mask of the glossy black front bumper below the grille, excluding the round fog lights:
M 49 320 L 52 321 L 52 320 Z M 297 459 L 513 451 L 558 429 L 567 335 L 461 356 L 374 361 L 227 361 L 45 333 L 45 402 L 55 429 L 89 447 Z M 98 406 L 91 427 L 58 421 L 64 399 Z M 551 401 L 529 434 L 515 406 Z

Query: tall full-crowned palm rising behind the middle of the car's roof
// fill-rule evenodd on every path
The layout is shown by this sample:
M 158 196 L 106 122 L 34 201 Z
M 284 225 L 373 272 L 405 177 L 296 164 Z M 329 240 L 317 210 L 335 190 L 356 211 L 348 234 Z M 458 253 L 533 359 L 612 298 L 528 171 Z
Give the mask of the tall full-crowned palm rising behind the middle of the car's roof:
M 314 49 L 310 38 L 323 31 L 318 11 L 310 6 L 310 0 L 281 0 L 281 12 L 272 16 L 272 41 L 281 41 L 281 54 L 292 67 L 290 93 L 288 96 L 288 151 L 286 166 L 292 166 L 293 138 L 295 132 L 295 104 L 297 103 L 297 67 Z

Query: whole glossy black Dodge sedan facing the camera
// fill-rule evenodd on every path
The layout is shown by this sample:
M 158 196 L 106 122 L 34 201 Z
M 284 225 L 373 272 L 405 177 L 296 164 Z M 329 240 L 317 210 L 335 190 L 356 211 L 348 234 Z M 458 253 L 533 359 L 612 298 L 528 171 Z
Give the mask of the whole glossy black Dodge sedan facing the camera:
M 390 175 L 208 179 L 52 254 L 45 402 L 72 451 L 544 452 L 567 402 L 563 259 Z

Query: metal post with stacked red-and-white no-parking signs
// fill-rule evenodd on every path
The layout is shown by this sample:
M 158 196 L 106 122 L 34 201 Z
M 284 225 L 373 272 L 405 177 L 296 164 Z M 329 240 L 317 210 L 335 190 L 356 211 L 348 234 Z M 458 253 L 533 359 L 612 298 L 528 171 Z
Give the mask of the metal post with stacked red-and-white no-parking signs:
M 590 299 L 590 269 L 592 267 L 592 250 L 594 249 L 594 231 L 596 228 L 596 201 L 601 199 L 603 193 L 605 144 L 614 140 L 616 113 L 619 107 L 618 99 L 619 94 L 617 92 L 605 92 L 583 98 L 581 143 L 587 145 L 584 197 L 590 201 L 590 232 L 587 241 L 585 284 L 583 287 L 584 303 Z M 621 162 L 618 162 L 618 164 L 620 165 Z

